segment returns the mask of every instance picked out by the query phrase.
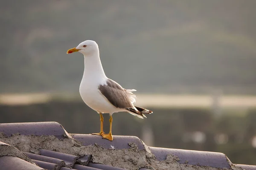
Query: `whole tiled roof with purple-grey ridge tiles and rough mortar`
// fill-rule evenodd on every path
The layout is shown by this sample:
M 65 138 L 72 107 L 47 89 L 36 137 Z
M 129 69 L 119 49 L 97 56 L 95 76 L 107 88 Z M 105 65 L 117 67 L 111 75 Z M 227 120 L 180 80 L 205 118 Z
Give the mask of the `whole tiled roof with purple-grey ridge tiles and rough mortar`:
M 0 124 L 0 169 L 5 170 L 256 170 L 223 153 L 148 147 L 136 136 L 108 141 L 69 134 L 57 122 Z

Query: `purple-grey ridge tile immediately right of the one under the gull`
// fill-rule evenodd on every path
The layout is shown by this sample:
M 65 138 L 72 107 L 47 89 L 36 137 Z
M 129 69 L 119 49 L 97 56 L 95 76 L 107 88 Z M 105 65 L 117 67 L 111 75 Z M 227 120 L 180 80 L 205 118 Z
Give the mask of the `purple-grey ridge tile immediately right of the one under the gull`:
M 151 152 L 156 156 L 157 160 L 163 161 L 168 154 L 172 154 L 179 158 L 180 164 L 200 164 L 202 166 L 210 166 L 217 168 L 230 168 L 230 160 L 223 153 L 205 152 L 196 150 L 168 149 L 161 147 L 149 147 Z

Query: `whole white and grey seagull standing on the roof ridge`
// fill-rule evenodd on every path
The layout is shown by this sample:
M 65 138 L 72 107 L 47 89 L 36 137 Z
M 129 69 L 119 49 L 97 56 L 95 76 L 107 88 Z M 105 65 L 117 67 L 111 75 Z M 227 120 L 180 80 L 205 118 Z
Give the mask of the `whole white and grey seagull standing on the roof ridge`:
M 100 135 L 103 139 L 113 141 L 112 136 L 112 114 L 116 112 L 128 112 L 139 118 L 146 117 L 144 114 L 151 114 L 152 111 L 134 106 L 136 95 L 135 89 L 122 88 L 117 82 L 109 79 L 102 68 L 99 58 L 99 47 L 95 41 L 86 40 L 77 47 L 71 48 L 67 54 L 80 52 L 84 55 L 84 74 L 81 80 L 79 92 L 84 103 L 99 113 L 100 132 L 92 133 Z M 109 133 L 103 131 L 102 113 L 109 113 Z

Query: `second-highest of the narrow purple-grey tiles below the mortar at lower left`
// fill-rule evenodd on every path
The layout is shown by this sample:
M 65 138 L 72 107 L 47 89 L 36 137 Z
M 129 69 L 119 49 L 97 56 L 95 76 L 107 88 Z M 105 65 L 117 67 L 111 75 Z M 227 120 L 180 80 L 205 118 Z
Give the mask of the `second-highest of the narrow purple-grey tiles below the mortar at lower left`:
M 65 162 L 61 159 L 51 158 L 51 157 L 48 157 L 48 156 L 42 156 L 42 155 L 37 155 L 37 154 L 27 153 L 27 152 L 22 152 L 22 153 L 24 153 L 30 159 L 49 162 L 49 163 L 52 163 L 52 164 L 57 164 L 58 169 L 60 169 L 62 166 L 65 166 Z

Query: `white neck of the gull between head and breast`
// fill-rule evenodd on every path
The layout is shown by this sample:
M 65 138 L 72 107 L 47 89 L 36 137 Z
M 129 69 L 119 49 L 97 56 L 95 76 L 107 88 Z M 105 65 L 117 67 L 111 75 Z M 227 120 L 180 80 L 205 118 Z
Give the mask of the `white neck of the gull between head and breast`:
M 99 58 L 99 51 L 91 56 L 84 56 L 84 75 L 82 81 L 93 79 L 102 82 L 102 80 L 106 78 Z

